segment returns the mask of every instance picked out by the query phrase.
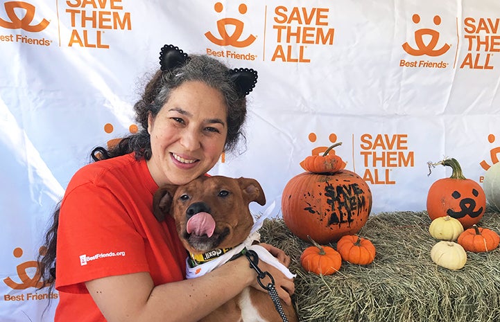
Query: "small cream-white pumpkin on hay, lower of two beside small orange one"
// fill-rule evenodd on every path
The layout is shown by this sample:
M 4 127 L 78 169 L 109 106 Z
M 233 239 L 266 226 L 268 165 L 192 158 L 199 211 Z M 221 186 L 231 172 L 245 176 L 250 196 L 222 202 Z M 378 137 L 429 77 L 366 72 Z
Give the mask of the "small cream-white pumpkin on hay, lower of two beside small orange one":
M 460 244 L 442 240 L 431 249 L 432 261 L 447 269 L 461 269 L 467 262 L 467 253 Z

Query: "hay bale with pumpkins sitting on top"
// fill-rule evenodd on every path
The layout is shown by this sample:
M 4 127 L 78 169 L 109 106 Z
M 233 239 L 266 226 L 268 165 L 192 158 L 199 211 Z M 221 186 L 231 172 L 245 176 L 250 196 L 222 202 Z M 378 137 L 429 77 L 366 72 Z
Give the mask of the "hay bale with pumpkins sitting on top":
M 500 232 L 500 214 L 487 211 L 479 225 Z M 343 262 L 331 276 L 300 267 L 300 254 L 311 244 L 295 237 L 282 219 L 266 220 L 260 233 L 262 242 L 292 258 L 300 321 L 500 321 L 500 249 L 467 252 L 458 271 L 438 267 L 430 256 L 438 240 L 429 235 L 429 224 L 425 212 L 372 215 L 359 235 L 377 247 L 374 262 Z

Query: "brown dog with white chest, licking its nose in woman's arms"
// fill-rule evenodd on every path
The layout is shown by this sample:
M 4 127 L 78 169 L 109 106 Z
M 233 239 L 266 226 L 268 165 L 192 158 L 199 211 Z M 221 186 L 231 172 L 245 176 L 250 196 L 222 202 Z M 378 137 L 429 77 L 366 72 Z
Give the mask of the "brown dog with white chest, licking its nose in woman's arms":
M 166 215 L 173 216 L 180 240 L 191 254 L 187 260 L 188 278 L 190 274 L 196 277 L 198 267 L 212 265 L 222 254 L 232 256 L 242 244 L 252 241 L 249 236 L 254 220 L 248 208 L 250 202 L 266 203 L 255 179 L 200 177 L 184 186 L 158 188 L 153 197 L 153 213 L 160 221 Z M 283 301 L 281 305 L 289 322 L 298 321 L 292 306 Z M 269 294 L 247 287 L 201 321 L 280 322 L 283 319 Z

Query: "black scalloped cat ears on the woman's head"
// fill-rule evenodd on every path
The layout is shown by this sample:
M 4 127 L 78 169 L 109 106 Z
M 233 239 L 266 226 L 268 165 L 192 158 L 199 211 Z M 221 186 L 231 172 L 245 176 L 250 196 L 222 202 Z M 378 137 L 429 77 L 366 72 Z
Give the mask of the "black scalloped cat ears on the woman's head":
M 160 51 L 160 69 L 171 71 L 189 62 L 190 58 L 182 49 L 173 45 L 165 45 Z M 248 68 L 231 69 L 229 77 L 240 97 L 248 95 L 257 84 L 257 71 Z

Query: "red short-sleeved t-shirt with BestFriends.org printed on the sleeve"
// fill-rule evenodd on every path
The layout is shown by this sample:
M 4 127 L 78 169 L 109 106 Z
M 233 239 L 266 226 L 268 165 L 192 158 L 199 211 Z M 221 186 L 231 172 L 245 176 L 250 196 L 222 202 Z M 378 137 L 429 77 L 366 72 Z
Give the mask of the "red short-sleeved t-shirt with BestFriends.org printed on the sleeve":
M 105 321 L 85 282 L 147 271 L 155 285 L 184 279 L 187 253 L 170 216 L 152 212 L 158 186 L 133 154 L 76 172 L 60 208 L 55 322 Z

